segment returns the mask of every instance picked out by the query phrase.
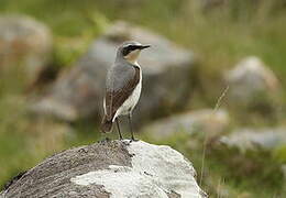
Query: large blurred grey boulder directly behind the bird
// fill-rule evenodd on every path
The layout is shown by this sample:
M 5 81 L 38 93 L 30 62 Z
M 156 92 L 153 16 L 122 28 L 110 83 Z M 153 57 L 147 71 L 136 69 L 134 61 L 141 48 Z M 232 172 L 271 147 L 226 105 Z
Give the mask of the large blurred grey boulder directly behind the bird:
M 191 92 L 193 54 L 151 31 L 118 22 L 91 44 L 70 70 L 59 75 L 47 96 L 33 105 L 33 110 L 67 121 L 100 114 L 107 69 L 114 61 L 116 48 L 127 40 L 152 45 L 139 61 L 143 90 L 140 114 L 134 119 L 143 121 L 184 107 Z

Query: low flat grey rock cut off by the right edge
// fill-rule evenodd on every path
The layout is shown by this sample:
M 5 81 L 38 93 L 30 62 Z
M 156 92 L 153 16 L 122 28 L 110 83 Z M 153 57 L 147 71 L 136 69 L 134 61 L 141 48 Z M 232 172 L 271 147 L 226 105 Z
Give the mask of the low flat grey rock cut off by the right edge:
M 271 151 L 276 146 L 286 145 L 286 128 L 240 129 L 222 136 L 219 142 L 242 152 Z

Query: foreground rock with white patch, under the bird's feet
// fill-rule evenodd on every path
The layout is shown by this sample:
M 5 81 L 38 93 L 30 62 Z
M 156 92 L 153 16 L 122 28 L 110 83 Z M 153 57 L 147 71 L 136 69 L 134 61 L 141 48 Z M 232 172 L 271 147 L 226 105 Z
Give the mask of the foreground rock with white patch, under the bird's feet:
M 169 146 L 112 141 L 51 156 L 1 194 L 7 198 L 206 197 L 195 175 L 191 163 Z

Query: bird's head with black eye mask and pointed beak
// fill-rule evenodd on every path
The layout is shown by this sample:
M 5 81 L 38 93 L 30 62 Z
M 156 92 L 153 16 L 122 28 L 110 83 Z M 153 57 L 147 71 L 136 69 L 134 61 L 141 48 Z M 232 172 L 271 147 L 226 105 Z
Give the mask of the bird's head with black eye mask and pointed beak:
M 150 47 L 135 41 L 122 43 L 118 48 L 118 56 L 124 58 L 131 64 L 135 64 L 142 50 Z

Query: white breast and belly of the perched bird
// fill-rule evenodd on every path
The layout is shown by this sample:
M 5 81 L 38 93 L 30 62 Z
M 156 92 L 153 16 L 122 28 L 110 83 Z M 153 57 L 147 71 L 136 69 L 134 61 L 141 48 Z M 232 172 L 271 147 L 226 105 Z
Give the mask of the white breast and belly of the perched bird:
M 136 66 L 139 66 L 136 64 Z M 139 66 L 140 67 L 140 66 Z M 117 110 L 112 122 L 114 122 L 114 120 L 120 117 L 120 116 L 125 116 L 132 112 L 132 110 L 135 108 L 135 106 L 138 105 L 140 95 L 141 95 L 141 88 L 142 88 L 142 72 L 140 69 L 140 80 L 138 86 L 135 87 L 135 89 L 133 90 L 133 92 L 131 94 L 131 96 L 123 102 L 123 105 Z M 105 108 L 105 112 L 106 112 L 106 100 L 103 100 L 103 108 Z

